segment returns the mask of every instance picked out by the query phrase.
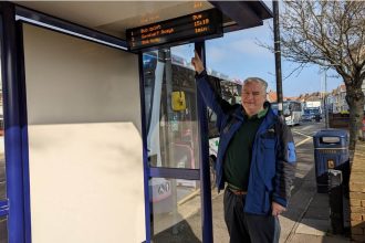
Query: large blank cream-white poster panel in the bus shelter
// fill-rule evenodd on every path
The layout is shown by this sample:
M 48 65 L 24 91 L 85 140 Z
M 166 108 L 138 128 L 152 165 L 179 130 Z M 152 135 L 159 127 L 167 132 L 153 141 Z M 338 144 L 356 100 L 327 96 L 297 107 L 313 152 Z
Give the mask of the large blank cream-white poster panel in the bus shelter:
M 23 31 L 32 242 L 143 242 L 137 56 Z

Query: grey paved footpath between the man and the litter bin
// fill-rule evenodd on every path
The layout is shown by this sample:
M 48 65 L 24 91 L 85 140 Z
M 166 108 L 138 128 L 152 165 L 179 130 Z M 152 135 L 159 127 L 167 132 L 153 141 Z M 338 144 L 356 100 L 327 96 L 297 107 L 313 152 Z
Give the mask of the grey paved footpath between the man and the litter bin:
M 295 134 L 295 130 L 293 130 Z M 312 139 L 304 144 L 296 142 L 298 168 L 288 211 L 280 216 L 281 243 L 289 242 L 351 242 L 348 199 L 343 197 L 343 234 L 335 234 L 330 220 L 330 198 L 327 193 L 317 193 L 315 163 Z

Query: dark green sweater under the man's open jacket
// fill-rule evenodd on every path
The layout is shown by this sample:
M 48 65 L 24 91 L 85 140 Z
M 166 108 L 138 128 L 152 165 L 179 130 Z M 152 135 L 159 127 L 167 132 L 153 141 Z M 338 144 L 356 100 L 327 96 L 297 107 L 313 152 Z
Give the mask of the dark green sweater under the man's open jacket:
M 225 178 L 229 187 L 247 191 L 249 183 L 252 145 L 268 109 L 260 110 L 252 117 L 244 116 L 244 123 L 236 131 L 225 157 Z

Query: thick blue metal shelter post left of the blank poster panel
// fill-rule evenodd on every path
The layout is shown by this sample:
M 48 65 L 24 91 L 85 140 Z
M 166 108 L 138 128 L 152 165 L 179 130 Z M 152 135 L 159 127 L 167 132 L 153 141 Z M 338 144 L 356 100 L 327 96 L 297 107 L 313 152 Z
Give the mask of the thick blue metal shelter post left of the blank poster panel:
M 1 3 L 2 85 L 9 243 L 24 242 L 23 168 L 20 122 L 20 89 L 17 74 L 17 30 L 14 4 Z

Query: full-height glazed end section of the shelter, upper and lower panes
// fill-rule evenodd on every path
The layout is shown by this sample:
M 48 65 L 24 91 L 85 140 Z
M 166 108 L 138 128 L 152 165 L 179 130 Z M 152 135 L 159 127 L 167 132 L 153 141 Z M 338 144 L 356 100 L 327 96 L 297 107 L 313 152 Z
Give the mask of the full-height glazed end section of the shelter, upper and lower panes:
M 202 242 L 194 44 L 143 54 L 152 242 Z M 197 172 L 198 171 L 198 172 Z M 167 172 L 167 173 L 168 173 Z M 186 175 L 190 175 L 186 179 Z M 157 172 L 158 175 L 158 172 Z M 184 179 L 185 178 L 185 179 Z

